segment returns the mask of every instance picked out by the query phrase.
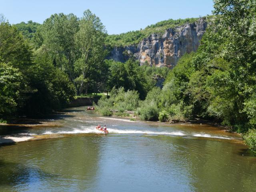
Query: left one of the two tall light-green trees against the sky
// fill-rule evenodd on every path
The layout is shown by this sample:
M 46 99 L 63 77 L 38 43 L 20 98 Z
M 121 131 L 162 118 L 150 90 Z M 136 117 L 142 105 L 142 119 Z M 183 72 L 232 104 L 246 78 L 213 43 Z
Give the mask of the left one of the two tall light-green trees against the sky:
M 78 18 L 74 14 L 54 14 L 46 19 L 36 37 L 42 36 L 43 44 L 50 50 L 52 60 L 64 70 L 74 82 L 74 62 L 77 57 L 75 34 L 78 31 Z

